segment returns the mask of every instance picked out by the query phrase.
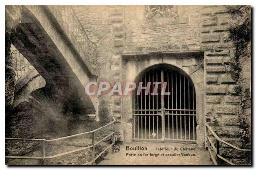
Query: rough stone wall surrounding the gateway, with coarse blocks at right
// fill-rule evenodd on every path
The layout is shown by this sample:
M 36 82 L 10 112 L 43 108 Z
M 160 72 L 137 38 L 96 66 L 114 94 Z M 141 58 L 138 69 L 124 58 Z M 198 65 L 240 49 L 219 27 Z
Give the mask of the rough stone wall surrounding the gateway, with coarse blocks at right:
M 239 84 L 229 75 L 228 63 L 234 57 L 229 40 L 232 16 L 225 6 L 173 6 L 173 18 L 148 19 L 148 6 L 76 7 L 76 13 L 90 39 L 100 49 L 99 80 L 122 81 L 122 60 L 153 53 L 204 52 L 205 121 L 217 119 L 218 135 L 237 141 L 241 112 Z M 171 59 L 171 58 L 170 58 Z M 131 70 L 132 71 L 132 70 Z M 119 139 L 126 125 L 122 110 L 124 97 L 100 96 L 106 101 L 109 117 L 118 120 Z M 130 101 L 131 102 L 131 101 Z M 126 113 L 127 114 L 127 113 Z M 119 123 L 120 122 L 120 123 Z M 238 146 L 240 144 L 238 143 Z

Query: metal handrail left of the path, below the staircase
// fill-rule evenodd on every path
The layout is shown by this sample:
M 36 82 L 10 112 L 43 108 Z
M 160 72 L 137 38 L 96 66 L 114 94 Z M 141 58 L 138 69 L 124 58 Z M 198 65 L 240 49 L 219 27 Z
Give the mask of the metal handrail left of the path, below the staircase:
M 45 159 L 51 159 L 51 158 L 57 158 L 63 155 L 67 155 L 70 153 L 74 153 L 77 151 L 82 151 L 85 149 L 89 149 L 92 148 L 92 160 L 90 162 L 87 162 L 87 164 L 92 164 L 93 162 L 95 162 L 95 160 L 97 158 L 99 158 L 105 151 L 107 151 L 111 146 L 113 146 L 115 144 L 115 125 L 114 123 L 116 122 L 115 118 L 113 118 L 113 121 L 100 127 L 97 129 L 94 129 L 92 131 L 89 132 L 83 132 L 83 133 L 79 133 L 79 134 L 75 134 L 75 135 L 69 135 L 69 136 L 65 136 L 65 137 L 60 137 L 60 138 L 56 138 L 56 139 L 29 139 L 29 138 L 5 138 L 5 140 L 37 140 L 37 141 L 42 141 L 42 156 L 41 157 L 29 157 L 29 156 L 5 156 L 5 158 L 18 158 L 18 159 L 41 159 L 42 160 L 42 164 L 44 164 L 44 160 Z M 107 136 L 105 136 L 104 138 L 102 138 L 100 141 L 97 141 L 95 143 L 95 132 L 99 131 L 102 128 L 105 128 L 109 125 L 113 125 L 113 132 L 111 132 L 110 134 L 108 134 Z M 56 155 L 52 155 L 52 156 L 45 156 L 45 141 L 57 141 L 57 140 L 61 140 L 61 139 L 68 139 L 68 138 L 72 138 L 72 137 L 76 137 L 76 136 L 80 136 L 80 135 L 86 135 L 86 134 L 92 134 L 92 145 L 86 146 L 86 147 L 82 147 L 76 150 L 72 150 L 72 151 L 68 151 L 68 152 L 64 152 L 64 153 L 60 153 L 60 154 L 56 154 Z M 94 155 L 95 152 L 95 145 L 99 144 L 100 142 L 104 141 L 105 139 L 107 139 L 108 137 L 112 136 L 112 143 L 110 145 L 108 145 L 102 152 L 100 152 L 100 154 L 98 154 L 96 157 Z M 86 165 L 87 165 L 86 164 Z M 84 164 L 85 165 L 85 164 Z

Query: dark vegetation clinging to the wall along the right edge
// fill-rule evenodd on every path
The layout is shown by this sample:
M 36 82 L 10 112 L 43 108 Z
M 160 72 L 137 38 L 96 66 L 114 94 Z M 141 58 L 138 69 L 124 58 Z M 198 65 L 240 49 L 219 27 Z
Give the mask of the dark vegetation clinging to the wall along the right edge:
M 240 61 L 242 58 L 251 57 L 251 6 L 250 5 L 231 5 L 230 9 L 233 20 L 230 22 L 230 39 L 234 42 L 236 52 L 234 58 L 230 62 L 230 74 L 236 81 L 241 81 L 242 67 Z M 248 63 L 250 64 L 250 63 Z M 248 88 L 239 93 L 246 93 Z M 242 94 L 243 95 L 243 94 Z M 243 95 L 244 96 L 244 95 Z M 250 99 L 250 97 L 248 98 Z M 240 138 L 243 142 L 243 147 L 250 142 L 251 132 L 249 125 L 246 123 L 246 116 L 244 115 L 244 104 L 242 100 L 243 112 L 239 116 L 239 126 L 241 127 Z

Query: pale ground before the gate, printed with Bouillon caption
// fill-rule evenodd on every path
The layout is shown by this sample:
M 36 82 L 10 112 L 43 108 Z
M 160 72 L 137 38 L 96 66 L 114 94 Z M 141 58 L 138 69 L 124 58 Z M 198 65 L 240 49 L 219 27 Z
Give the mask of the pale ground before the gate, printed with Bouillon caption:
M 109 153 L 104 160 L 98 165 L 213 165 L 210 161 L 209 153 L 205 149 L 199 149 L 196 144 L 181 144 L 181 143 L 149 143 L 149 142 L 132 142 L 129 144 L 119 145 L 118 153 Z M 129 147 L 147 147 L 147 151 L 126 151 L 126 146 Z M 166 147 L 172 148 L 172 151 L 156 151 L 156 148 Z M 173 151 L 174 148 L 179 151 Z M 194 148 L 196 151 L 180 151 L 180 148 Z M 136 156 L 126 156 L 126 154 L 136 154 Z M 159 156 L 143 156 L 145 154 L 157 154 Z M 181 156 L 181 153 L 195 154 L 193 156 Z M 142 154 L 139 157 L 138 154 Z M 164 154 L 164 156 L 161 156 Z M 180 156 L 167 156 L 166 154 L 180 154 Z

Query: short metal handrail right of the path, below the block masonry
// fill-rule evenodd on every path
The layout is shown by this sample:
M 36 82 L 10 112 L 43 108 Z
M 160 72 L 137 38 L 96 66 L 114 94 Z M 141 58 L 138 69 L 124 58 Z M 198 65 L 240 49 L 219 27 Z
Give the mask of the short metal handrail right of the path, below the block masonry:
M 212 121 L 207 122 L 207 123 L 205 124 L 205 126 L 206 126 L 206 138 L 207 138 L 207 142 L 208 142 L 208 151 L 209 151 L 209 153 L 210 153 L 210 156 L 211 156 L 211 158 L 212 158 L 212 161 L 213 161 L 213 163 L 214 163 L 215 165 L 219 165 L 219 164 L 220 164 L 220 159 L 221 159 L 221 160 L 224 160 L 225 162 L 227 162 L 227 163 L 230 164 L 230 165 L 235 165 L 234 163 L 232 163 L 231 161 L 227 160 L 226 158 L 223 158 L 223 157 L 220 155 L 220 142 L 221 142 L 221 143 L 224 143 L 224 144 L 226 144 L 226 145 L 228 145 L 228 146 L 230 146 L 231 148 L 233 148 L 233 149 L 235 149 L 235 150 L 237 150 L 237 151 L 252 151 L 252 150 L 251 150 L 251 149 L 241 149 L 241 148 L 238 148 L 238 147 L 232 145 L 231 143 L 228 143 L 228 142 L 226 142 L 226 141 L 220 139 L 220 137 L 219 137 L 218 135 L 216 135 L 216 133 L 212 130 L 212 128 L 211 128 L 210 125 L 209 125 L 210 123 L 215 122 L 215 121 L 217 121 L 217 120 L 215 119 L 215 120 L 212 120 Z M 209 137 L 209 132 L 208 132 L 208 130 L 212 133 L 212 135 L 213 135 L 214 138 L 216 139 L 216 147 L 214 146 L 214 143 L 212 142 L 212 140 L 211 140 L 210 137 Z M 216 159 L 213 157 L 211 148 L 212 148 L 212 149 L 214 150 L 214 152 L 216 153 L 215 155 L 216 155 L 217 161 L 216 161 Z

